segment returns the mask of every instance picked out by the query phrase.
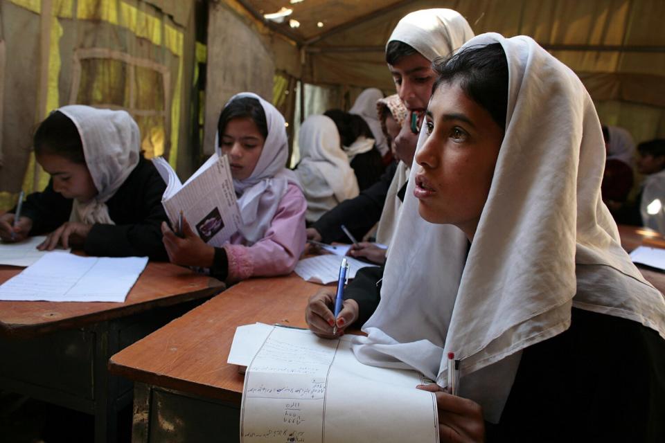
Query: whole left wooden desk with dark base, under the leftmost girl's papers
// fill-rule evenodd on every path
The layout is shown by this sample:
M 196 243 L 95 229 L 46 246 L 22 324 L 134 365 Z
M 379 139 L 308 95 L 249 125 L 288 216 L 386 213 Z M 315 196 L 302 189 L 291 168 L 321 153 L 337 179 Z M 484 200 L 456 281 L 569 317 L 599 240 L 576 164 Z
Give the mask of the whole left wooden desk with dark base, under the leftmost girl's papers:
M 21 268 L 0 266 L 0 283 Z M 109 377 L 109 356 L 224 289 L 205 275 L 148 263 L 123 303 L 0 301 L 0 389 L 95 416 L 95 441 L 114 441 L 132 384 Z

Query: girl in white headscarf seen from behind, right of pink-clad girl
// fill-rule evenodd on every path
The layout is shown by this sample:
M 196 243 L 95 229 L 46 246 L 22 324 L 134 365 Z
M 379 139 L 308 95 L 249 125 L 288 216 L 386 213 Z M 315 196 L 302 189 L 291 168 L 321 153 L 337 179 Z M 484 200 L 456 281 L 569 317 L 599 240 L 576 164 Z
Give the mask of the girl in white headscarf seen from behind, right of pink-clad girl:
M 308 117 L 298 141 L 301 160 L 295 172 L 307 199 L 305 219 L 313 222 L 342 201 L 356 197 L 358 182 L 339 149 L 339 132 L 330 118 Z

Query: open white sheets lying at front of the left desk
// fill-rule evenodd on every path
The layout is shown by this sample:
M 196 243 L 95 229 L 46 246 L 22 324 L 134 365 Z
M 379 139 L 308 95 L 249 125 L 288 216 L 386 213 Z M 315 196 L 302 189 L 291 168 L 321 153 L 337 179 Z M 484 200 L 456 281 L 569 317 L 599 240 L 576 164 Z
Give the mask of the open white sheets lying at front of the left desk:
M 0 300 L 124 302 L 148 257 L 44 255 L 0 286 Z

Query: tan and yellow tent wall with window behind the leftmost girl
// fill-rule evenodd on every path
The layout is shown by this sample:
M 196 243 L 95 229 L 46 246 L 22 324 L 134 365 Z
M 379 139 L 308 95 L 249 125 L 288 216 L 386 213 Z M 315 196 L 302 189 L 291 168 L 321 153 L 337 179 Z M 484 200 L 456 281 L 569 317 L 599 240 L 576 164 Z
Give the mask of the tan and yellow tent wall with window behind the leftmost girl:
M 41 190 L 37 124 L 64 105 L 125 109 L 146 156 L 177 165 L 189 132 L 194 0 L 0 0 L 3 75 L 0 208 Z M 164 9 L 156 7 L 163 7 Z M 170 11 L 172 15 L 169 15 Z M 0 57 L 1 62 L 1 57 Z

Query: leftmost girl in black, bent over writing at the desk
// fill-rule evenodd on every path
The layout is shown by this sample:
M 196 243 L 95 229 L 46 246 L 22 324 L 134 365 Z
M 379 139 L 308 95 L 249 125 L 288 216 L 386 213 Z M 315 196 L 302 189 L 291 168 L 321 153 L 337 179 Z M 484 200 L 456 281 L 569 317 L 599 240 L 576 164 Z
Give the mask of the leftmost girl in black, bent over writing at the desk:
M 34 143 L 37 163 L 51 180 L 28 195 L 15 228 L 16 209 L 0 217 L 3 241 L 49 233 L 40 249 L 167 259 L 160 232 L 168 219 L 161 205 L 166 184 L 139 151 L 139 127 L 130 114 L 65 106 L 39 125 Z

